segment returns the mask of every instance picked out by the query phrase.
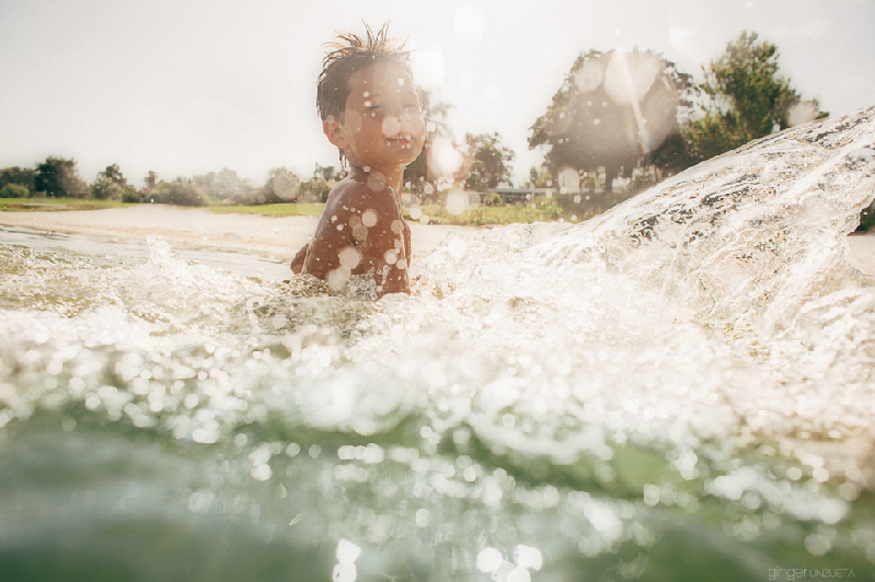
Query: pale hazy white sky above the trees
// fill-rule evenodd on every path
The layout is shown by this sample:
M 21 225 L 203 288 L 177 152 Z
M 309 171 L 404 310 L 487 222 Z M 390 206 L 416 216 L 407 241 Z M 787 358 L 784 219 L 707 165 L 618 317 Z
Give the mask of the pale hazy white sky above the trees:
M 258 186 L 337 166 L 315 110 L 324 44 L 387 21 L 456 139 L 498 132 L 517 183 L 543 159 L 529 128 L 590 49 L 654 50 L 700 79 L 756 31 L 803 97 L 875 105 L 872 0 L 0 0 L 0 167 L 72 158 L 91 182 L 115 163 L 136 186 L 229 167 Z

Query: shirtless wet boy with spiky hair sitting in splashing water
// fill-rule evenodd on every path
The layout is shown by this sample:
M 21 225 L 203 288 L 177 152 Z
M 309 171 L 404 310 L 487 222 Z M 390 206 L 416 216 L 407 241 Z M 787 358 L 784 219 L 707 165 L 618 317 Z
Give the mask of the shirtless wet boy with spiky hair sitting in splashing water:
M 423 149 L 425 121 L 408 54 L 390 46 L 385 26 L 367 33 L 366 40 L 341 34 L 323 60 L 316 107 L 349 175 L 331 190 L 291 270 L 333 289 L 353 275 L 372 275 L 382 296 L 410 293 L 411 231 L 401 216 L 401 187 L 404 168 Z

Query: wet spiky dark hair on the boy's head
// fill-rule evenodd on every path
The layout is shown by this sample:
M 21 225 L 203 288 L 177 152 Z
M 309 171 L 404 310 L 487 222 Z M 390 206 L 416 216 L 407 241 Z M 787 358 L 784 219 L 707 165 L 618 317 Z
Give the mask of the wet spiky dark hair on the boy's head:
M 383 24 L 377 34 L 365 24 L 367 37 L 361 38 L 343 31 L 337 38 L 327 43 L 331 49 L 322 60 L 322 72 L 316 84 L 316 109 L 322 120 L 330 116 L 343 123 L 346 97 L 349 95 L 349 79 L 358 71 L 378 61 L 390 61 L 402 67 L 413 78 L 410 53 L 404 44 L 395 45 L 389 38 L 389 23 Z

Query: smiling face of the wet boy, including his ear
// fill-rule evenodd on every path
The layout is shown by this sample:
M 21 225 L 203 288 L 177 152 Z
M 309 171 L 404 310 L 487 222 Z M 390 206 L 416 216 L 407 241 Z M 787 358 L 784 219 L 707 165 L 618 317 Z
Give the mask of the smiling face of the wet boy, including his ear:
M 425 121 L 413 81 L 393 62 L 375 62 L 349 79 L 344 121 L 325 135 L 349 162 L 392 176 L 416 160 Z

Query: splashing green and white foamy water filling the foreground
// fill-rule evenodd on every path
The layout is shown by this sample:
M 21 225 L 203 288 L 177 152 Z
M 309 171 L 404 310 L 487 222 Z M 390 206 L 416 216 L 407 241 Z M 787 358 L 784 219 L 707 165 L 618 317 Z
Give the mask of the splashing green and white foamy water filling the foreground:
M 0 578 L 870 580 L 874 194 L 868 109 L 376 303 L 4 244 Z

